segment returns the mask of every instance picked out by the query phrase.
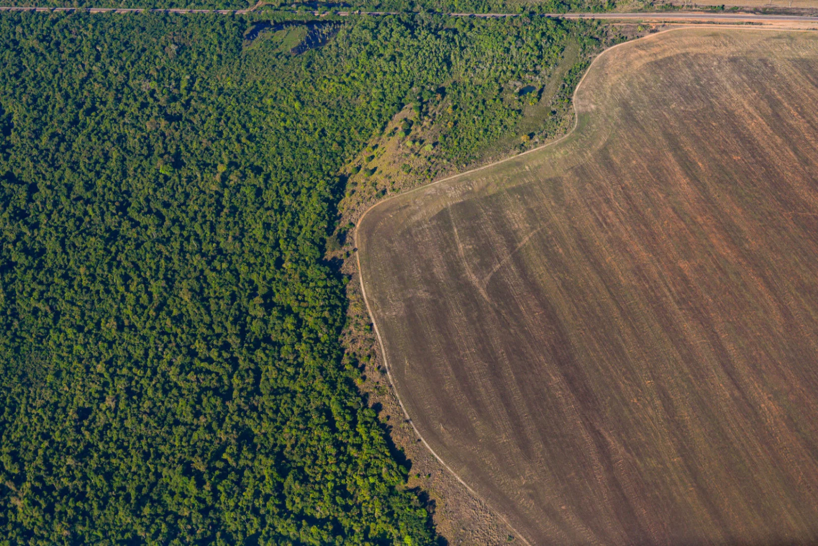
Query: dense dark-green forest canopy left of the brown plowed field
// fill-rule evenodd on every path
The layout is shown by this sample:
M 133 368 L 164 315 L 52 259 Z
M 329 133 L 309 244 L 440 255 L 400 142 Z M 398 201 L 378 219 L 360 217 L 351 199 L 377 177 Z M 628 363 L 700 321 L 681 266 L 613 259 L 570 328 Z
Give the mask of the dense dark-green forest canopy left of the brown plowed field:
M 443 86 L 469 159 L 593 27 L 251 25 L 0 15 L 0 544 L 438 540 L 339 343 L 340 173 Z

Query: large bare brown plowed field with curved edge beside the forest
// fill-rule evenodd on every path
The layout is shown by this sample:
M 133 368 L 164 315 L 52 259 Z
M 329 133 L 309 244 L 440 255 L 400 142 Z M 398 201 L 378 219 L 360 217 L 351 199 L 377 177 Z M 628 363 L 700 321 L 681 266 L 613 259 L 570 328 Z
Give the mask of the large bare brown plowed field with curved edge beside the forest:
M 529 544 L 816 544 L 818 34 L 654 34 L 575 104 L 359 223 L 412 424 Z

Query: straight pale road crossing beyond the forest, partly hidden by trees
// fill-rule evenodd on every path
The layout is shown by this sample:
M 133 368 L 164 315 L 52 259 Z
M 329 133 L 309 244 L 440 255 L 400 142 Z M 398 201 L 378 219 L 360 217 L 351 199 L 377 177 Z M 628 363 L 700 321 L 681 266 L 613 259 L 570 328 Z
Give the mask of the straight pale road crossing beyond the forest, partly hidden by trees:
M 241 15 L 249 13 L 251 9 L 246 10 L 193 10 L 184 8 L 125 8 L 125 7 L 5 7 L 0 6 L 0 11 L 87 11 L 89 13 L 106 13 L 113 11 L 115 13 L 140 13 L 142 11 L 151 11 L 155 13 L 218 13 L 221 15 Z M 368 16 L 387 16 L 399 15 L 398 11 L 333 11 L 335 15 L 350 16 L 350 15 L 368 15 Z M 323 15 L 315 11 L 314 15 Z M 447 13 L 447 16 L 452 17 L 518 17 L 518 13 Z M 605 19 L 605 20 L 740 20 L 740 21 L 816 21 L 816 16 L 790 16 L 790 15 L 757 15 L 754 13 L 723 13 L 723 12 L 708 12 L 708 11 L 669 11 L 665 13 L 545 13 L 544 17 L 555 17 L 564 19 Z

